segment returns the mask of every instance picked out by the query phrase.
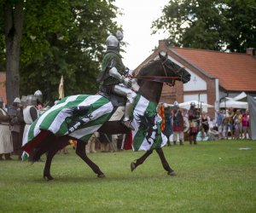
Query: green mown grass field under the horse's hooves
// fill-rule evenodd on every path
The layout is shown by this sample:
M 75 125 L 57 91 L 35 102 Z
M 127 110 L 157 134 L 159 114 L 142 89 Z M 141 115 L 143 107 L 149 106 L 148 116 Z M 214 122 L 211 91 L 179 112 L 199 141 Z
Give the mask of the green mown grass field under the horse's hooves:
M 44 162 L 0 161 L 0 212 L 256 212 L 256 141 L 164 147 L 177 176 L 155 152 L 133 172 L 143 152 L 89 154 L 100 179 L 68 149 L 53 160 L 54 181 L 43 179 Z

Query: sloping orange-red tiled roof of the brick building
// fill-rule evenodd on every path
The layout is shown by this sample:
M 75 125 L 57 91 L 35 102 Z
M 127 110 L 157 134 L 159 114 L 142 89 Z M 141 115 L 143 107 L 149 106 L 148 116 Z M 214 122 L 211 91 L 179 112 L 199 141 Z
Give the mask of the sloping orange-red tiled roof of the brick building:
M 172 48 L 204 72 L 218 78 L 231 91 L 256 91 L 256 59 L 252 55 L 206 49 Z

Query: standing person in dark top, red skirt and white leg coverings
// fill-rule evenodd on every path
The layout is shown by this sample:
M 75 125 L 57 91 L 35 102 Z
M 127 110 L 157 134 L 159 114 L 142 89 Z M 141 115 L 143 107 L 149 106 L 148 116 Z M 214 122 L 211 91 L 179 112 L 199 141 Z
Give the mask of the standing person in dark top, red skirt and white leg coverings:
M 184 121 L 183 121 L 183 113 L 181 112 L 177 101 L 174 102 L 173 109 L 173 144 L 177 144 L 177 140 L 179 140 L 179 145 L 184 145 Z

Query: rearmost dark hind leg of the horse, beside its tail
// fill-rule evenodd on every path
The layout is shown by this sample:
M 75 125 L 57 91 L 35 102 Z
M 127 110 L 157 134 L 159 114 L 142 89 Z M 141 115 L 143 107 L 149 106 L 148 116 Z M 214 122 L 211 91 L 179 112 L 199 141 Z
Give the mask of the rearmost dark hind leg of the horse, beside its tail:
M 47 153 L 46 162 L 44 165 L 44 179 L 48 181 L 53 180 L 54 178 L 50 175 L 50 165 L 52 158 L 54 158 L 55 153 L 57 153 L 62 148 L 68 145 L 68 139 L 66 137 L 55 137 L 56 141 L 52 141 L 49 146 L 49 151 Z

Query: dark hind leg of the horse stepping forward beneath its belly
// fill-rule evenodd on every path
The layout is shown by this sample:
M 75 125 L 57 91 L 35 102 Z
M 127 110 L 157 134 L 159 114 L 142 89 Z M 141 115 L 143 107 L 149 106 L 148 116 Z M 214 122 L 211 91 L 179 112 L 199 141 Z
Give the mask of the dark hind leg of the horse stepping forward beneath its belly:
M 105 177 L 102 170 L 100 170 L 100 168 L 95 163 L 93 163 L 86 155 L 85 145 L 86 143 L 84 141 L 78 141 L 76 154 L 79 155 L 79 157 L 82 158 L 84 162 L 90 166 L 90 169 L 93 170 L 98 177 Z

